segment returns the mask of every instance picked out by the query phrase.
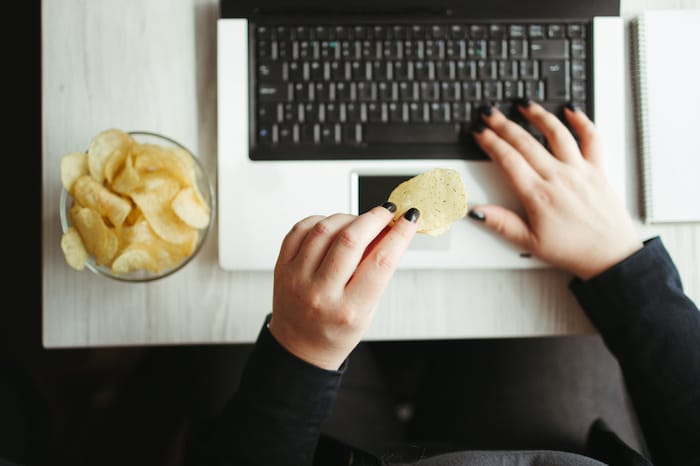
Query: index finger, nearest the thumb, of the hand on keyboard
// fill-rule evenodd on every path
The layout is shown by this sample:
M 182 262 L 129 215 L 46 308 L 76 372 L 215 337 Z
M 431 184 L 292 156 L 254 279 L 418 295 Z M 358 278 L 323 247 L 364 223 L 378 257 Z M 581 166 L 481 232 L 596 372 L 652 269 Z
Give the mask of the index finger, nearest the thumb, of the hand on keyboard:
M 484 152 L 491 157 L 491 160 L 501 168 L 506 180 L 513 187 L 516 194 L 524 195 L 536 181 L 542 179 L 520 152 L 515 150 L 513 146 L 508 144 L 493 130 L 489 128 L 482 129 L 475 133 L 474 139 L 484 149 Z

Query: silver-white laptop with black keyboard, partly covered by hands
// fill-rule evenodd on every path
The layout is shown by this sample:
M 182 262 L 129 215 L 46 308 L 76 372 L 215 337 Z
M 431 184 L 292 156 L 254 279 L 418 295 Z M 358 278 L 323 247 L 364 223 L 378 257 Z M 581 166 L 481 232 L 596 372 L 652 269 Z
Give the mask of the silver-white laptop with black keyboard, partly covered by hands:
M 522 212 L 471 138 L 485 101 L 513 118 L 518 97 L 560 116 L 574 101 L 596 122 L 626 200 L 618 1 L 221 0 L 217 28 L 224 270 L 272 270 L 302 218 L 360 214 L 434 167 L 459 171 L 469 205 Z M 399 267 L 546 265 L 465 218 L 417 235 Z

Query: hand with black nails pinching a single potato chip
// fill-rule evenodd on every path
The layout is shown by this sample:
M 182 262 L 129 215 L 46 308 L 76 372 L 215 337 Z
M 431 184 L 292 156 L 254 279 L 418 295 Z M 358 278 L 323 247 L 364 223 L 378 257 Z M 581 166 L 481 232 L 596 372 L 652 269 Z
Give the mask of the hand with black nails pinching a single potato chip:
M 307 217 L 287 234 L 274 271 L 270 333 L 290 353 L 336 370 L 362 339 L 382 292 L 416 233 L 409 209 Z

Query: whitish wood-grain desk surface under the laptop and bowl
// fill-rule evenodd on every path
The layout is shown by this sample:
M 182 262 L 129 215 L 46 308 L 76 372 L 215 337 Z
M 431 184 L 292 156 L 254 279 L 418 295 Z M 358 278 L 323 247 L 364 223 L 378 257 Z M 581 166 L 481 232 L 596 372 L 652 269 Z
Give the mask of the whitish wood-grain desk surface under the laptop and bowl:
M 220 269 L 216 228 L 185 269 L 151 284 L 74 271 L 59 245 L 60 157 L 105 128 L 174 137 L 216 179 L 217 1 L 44 0 L 42 8 L 44 346 L 253 342 L 271 310 L 272 274 Z M 622 16 L 659 8 L 700 8 L 700 0 L 623 0 Z M 631 121 L 628 141 L 634 169 Z M 636 186 L 629 189 L 634 204 Z M 636 205 L 630 209 L 636 214 Z M 661 235 L 700 301 L 700 224 L 639 230 L 643 238 Z M 400 271 L 366 338 L 593 333 L 569 280 L 552 269 Z

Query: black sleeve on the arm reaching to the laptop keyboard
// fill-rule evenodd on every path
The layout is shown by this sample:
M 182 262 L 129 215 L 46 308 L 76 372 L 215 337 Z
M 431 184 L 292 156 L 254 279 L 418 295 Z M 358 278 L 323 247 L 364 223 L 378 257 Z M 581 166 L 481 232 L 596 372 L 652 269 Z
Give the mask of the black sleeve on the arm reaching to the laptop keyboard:
M 700 464 L 700 313 L 661 239 L 571 289 L 620 363 L 653 462 Z

